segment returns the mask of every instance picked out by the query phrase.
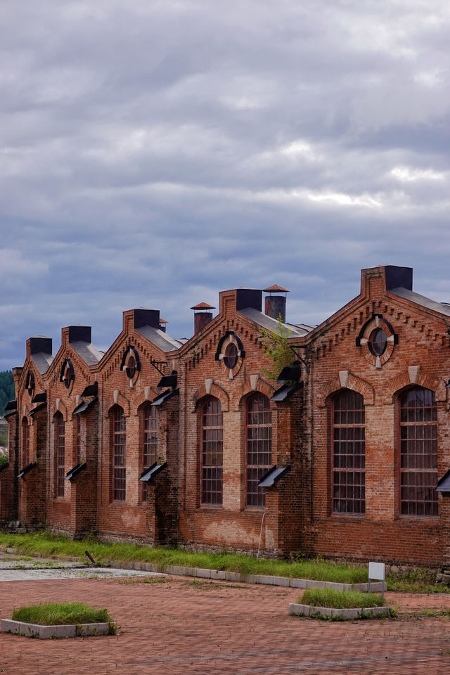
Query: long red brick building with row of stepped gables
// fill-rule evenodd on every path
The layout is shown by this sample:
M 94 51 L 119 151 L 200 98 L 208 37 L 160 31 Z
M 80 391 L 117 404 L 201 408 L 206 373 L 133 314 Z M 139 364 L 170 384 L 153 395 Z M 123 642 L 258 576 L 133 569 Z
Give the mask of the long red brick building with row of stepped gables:
M 219 294 L 174 340 L 159 311 L 124 312 L 105 354 L 91 328 L 30 338 L 6 411 L 0 520 L 72 536 L 450 563 L 450 307 L 412 270 L 361 273 L 320 326 L 284 323 L 285 289 Z M 438 480 L 438 491 L 437 487 Z

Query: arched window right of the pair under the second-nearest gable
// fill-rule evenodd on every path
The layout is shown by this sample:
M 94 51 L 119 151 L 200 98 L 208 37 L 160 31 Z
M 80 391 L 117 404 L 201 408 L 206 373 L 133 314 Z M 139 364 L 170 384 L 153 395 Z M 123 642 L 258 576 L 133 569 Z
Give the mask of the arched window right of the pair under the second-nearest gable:
M 246 405 L 247 428 L 247 506 L 265 506 L 266 496 L 258 483 L 271 468 L 272 427 L 269 399 L 252 394 Z

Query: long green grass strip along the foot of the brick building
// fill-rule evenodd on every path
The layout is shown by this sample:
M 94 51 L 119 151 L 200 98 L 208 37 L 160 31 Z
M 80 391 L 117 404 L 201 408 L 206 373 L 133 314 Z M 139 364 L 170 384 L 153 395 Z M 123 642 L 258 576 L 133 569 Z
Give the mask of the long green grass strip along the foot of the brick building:
M 328 560 L 300 560 L 290 563 L 285 560 L 262 560 L 252 555 L 238 555 L 229 551 L 221 553 L 189 553 L 176 548 L 151 548 L 137 544 L 105 544 L 93 536 L 84 541 L 73 541 L 62 535 L 46 532 L 34 534 L 9 534 L 0 532 L 0 547 L 15 548 L 25 555 L 40 555 L 43 558 L 77 558 L 86 560 L 84 551 L 101 563 L 114 565 L 118 560 L 155 563 L 160 570 L 167 565 L 181 567 L 205 567 L 208 570 L 227 570 L 240 574 L 267 574 L 275 577 L 317 579 L 336 581 L 341 584 L 358 584 L 367 581 L 367 567 L 337 565 Z

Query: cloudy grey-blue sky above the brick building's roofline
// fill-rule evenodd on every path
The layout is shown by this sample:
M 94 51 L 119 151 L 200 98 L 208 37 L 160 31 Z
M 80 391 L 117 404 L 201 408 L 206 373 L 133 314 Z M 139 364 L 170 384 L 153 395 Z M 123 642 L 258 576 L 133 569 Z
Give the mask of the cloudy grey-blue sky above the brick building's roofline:
M 378 264 L 450 301 L 447 0 L 4 1 L 0 51 L 0 371 L 239 286 L 321 323 Z

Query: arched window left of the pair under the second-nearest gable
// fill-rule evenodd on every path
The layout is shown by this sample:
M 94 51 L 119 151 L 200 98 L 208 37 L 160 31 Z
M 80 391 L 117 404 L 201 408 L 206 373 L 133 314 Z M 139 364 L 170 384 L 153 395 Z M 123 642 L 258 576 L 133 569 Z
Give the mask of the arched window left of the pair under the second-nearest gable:
M 223 484 L 222 406 L 211 397 L 202 408 L 202 503 L 221 504 Z

